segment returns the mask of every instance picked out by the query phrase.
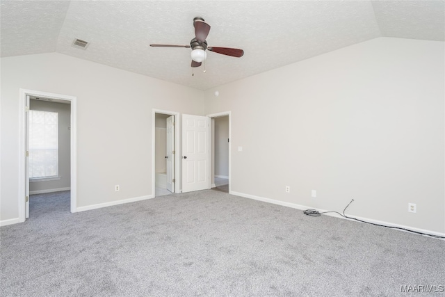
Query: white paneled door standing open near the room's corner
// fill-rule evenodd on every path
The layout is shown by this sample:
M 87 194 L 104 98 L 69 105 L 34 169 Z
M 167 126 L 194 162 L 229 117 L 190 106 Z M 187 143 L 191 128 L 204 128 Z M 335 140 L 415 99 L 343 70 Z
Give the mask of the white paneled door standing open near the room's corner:
M 210 188 L 210 118 L 182 115 L 182 192 Z

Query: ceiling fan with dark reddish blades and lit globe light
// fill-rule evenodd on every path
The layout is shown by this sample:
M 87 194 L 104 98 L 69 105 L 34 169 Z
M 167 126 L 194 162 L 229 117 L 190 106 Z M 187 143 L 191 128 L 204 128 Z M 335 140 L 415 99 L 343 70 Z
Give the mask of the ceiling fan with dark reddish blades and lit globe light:
M 150 45 L 150 47 L 190 47 L 192 49 L 192 67 L 200 67 L 202 61 L 205 61 L 207 58 L 206 49 L 218 54 L 236 58 L 243 56 L 244 51 L 242 49 L 232 49 L 230 47 L 208 47 L 206 38 L 207 35 L 209 35 L 210 25 L 204 22 L 202 17 L 195 17 L 193 19 L 193 26 L 195 27 L 195 38 L 191 40 L 190 45 Z

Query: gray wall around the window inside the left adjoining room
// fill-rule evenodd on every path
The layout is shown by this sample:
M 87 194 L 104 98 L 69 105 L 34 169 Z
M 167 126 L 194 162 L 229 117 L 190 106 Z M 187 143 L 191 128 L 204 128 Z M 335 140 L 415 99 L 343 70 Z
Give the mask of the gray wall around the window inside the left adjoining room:
M 52 111 L 58 113 L 58 176 L 60 179 L 50 181 L 31 181 L 30 193 L 43 193 L 48 191 L 70 188 L 70 120 L 71 106 L 58 102 L 29 100 L 30 109 L 35 111 Z

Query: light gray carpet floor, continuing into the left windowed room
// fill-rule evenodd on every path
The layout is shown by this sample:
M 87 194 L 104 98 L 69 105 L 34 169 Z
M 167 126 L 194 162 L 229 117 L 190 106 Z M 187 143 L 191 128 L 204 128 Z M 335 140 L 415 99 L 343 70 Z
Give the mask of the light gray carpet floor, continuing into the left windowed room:
M 0 228 L 1 296 L 444 295 L 445 241 L 220 191 L 30 214 Z

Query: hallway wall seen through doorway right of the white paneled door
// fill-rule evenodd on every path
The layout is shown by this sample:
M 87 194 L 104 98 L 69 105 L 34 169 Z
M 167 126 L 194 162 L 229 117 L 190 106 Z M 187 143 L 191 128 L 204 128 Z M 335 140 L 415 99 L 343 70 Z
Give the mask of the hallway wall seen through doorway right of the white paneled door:
M 215 118 L 215 176 L 229 176 L 229 116 Z

